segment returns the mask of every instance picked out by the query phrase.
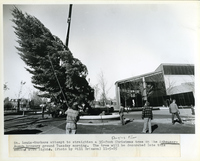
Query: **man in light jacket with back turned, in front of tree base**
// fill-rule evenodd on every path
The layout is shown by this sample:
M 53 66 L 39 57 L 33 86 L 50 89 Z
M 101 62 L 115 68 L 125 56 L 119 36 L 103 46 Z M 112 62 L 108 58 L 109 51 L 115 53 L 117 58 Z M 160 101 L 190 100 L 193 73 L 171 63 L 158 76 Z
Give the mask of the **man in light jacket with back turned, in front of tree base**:
M 65 114 L 67 114 L 66 134 L 76 134 L 77 122 L 79 120 L 78 103 L 74 103 L 72 108 L 69 107 Z

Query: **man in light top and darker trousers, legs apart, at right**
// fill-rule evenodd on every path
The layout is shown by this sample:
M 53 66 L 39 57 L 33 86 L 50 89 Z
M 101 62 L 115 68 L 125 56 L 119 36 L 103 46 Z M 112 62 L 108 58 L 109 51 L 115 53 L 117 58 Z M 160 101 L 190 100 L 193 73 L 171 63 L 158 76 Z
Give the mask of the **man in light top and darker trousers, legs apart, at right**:
M 176 100 L 173 99 L 172 103 L 169 105 L 169 112 L 172 114 L 172 124 L 174 125 L 174 115 L 176 115 L 176 117 L 178 118 L 179 122 L 181 124 L 183 124 L 183 121 L 181 120 L 179 114 L 180 114 L 180 111 L 178 109 L 178 106 L 176 104 Z

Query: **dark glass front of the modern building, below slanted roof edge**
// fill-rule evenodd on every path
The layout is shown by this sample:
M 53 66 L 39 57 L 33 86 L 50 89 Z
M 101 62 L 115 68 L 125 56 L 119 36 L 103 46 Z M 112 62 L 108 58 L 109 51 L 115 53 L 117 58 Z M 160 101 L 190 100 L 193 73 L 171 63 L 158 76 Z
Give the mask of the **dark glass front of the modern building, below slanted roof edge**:
M 146 98 L 152 106 L 163 105 L 163 96 L 166 95 L 163 74 L 155 73 L 143 77 L 119 84 L 120 100 L 124 106 L 133 106 L 132 102 L 134 100 L 135 107 L 141 107 L 144 105 Z

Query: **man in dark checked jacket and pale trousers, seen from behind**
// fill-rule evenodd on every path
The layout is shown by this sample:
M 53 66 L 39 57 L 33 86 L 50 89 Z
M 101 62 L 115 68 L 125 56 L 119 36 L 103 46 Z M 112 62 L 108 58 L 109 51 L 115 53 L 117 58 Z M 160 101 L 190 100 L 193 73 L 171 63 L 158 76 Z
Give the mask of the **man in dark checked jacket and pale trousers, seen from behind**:
M 147 132 L 147 126 L 149 129 L 149 133 L 151 133 L 151 120 L 153 119 L 153 113 L 152 113 L 152 108 L 149 106 L 149 102 L 146 101 L 144 108 L 142 110 L 142 119 L 144 119 L 144 127 L 142 132 L 146 133 Z

